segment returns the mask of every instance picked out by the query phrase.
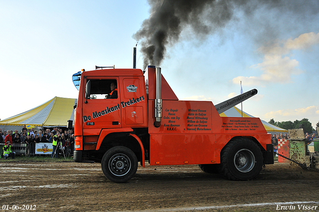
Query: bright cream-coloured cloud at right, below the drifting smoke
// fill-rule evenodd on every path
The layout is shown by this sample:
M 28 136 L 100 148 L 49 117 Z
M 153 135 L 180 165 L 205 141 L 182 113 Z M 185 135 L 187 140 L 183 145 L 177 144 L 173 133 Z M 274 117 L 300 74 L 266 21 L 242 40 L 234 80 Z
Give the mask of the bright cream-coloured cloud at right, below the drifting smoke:
M 263 71 L 260 76 L 238 76 L 233 78 L 234 84 L 243 81 L 246 85 L 265 85 L 271 82 L 290 83 L 292 75 L 303 73 L 298 68 L 299 61 L 291 59 L 287 54 L 292 50 L 302 50 L 311 48 L 319 43 L 319 33 L 304 33 L 299 37 L 286 41 L 277 41 L 269 46 L 262 46 L 258 49 L 264 54 L 263 62 L 252 65 L 251 68 L 258 68 Z

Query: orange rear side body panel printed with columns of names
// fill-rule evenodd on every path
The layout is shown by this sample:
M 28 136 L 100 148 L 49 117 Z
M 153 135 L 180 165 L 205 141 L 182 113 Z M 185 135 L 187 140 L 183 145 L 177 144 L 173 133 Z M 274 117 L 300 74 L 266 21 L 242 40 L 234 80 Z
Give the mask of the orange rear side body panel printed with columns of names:
M 265 150 L 270 141 L 259 118 L 220 117 L 211 102 L 163 100 L 162 106 L 160 127 L 149 126 L 150 165 L 220 163 L 220 150 L 233 137 L 253 134 Z

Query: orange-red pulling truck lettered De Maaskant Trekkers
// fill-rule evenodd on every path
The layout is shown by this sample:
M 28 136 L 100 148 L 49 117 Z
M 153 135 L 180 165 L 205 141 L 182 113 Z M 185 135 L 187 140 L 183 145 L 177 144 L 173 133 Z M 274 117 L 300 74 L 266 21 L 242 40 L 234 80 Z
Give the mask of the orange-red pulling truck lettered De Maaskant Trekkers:
M 103 67 L 102 67 L 103 68 Z M 109 98 L 111 83 L 118 95 Z M 196 164 L 229 180 L 255 178 L 273 164 L 271 135 L 259 118 L 221 117 L 252 90 L 214 106 L 180 101 L 160 68 L 82 72 L 75 107 L 74 161 L 101 163 L 107 179 L 124 183 L 138 169 Z M 112 95 L 113 96 L 113 95 Z

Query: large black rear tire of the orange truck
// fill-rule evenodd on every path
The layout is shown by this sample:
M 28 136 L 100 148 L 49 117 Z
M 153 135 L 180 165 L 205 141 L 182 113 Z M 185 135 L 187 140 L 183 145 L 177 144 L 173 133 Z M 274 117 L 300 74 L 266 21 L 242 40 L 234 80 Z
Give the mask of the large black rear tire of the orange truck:
M 250 139 L 230 141 L 221 152 L 220 173 L 228 180 L 254 179 L 263 167 L 263 155 L 258 145 Z

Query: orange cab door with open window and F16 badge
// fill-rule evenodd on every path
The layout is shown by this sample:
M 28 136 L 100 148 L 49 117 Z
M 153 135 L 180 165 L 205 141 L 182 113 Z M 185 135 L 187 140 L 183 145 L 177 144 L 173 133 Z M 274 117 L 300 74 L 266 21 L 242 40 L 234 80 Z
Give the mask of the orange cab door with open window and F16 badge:
M 121 128 L 118 78 L 87 77 L 84 95 L 83 135 L 85 132 L 99 134 L 101 129 L 106 128 Z

